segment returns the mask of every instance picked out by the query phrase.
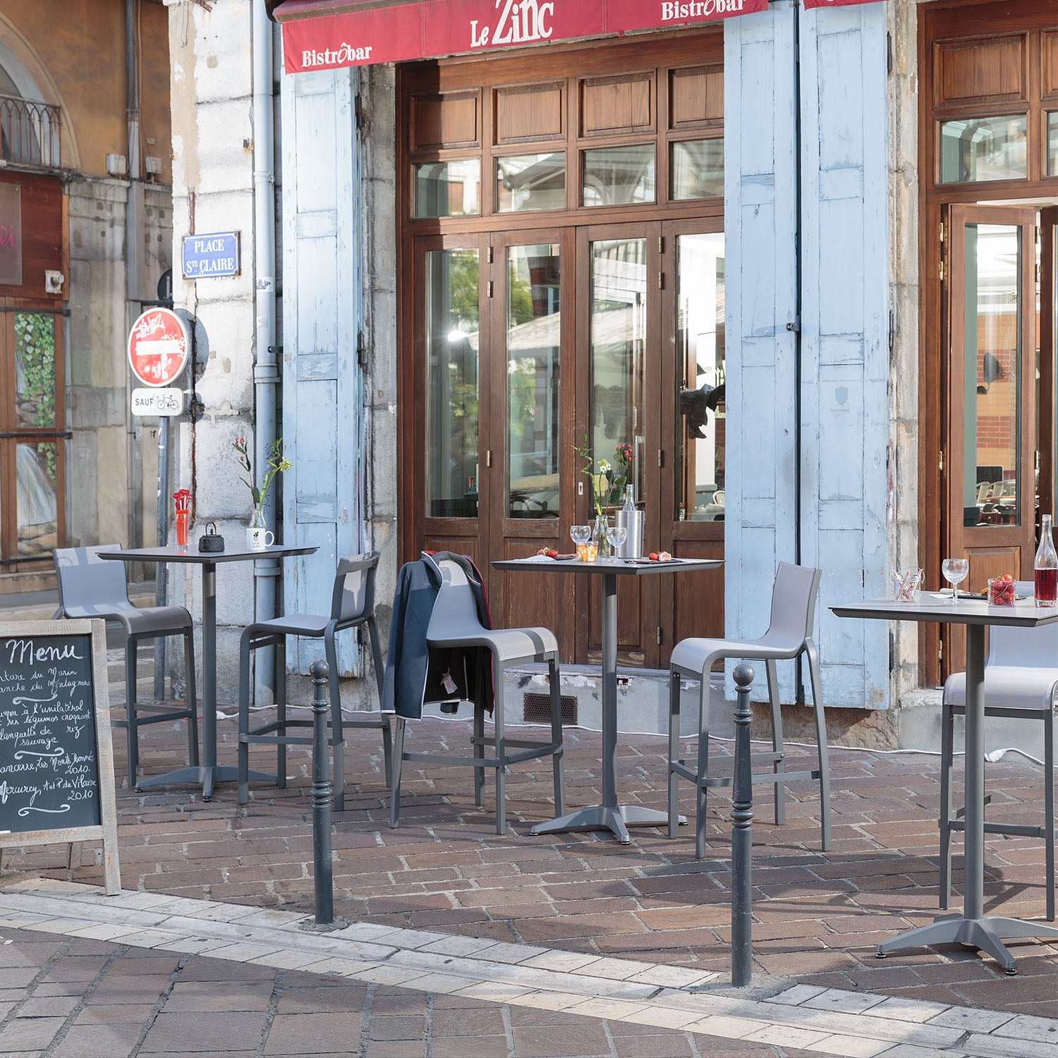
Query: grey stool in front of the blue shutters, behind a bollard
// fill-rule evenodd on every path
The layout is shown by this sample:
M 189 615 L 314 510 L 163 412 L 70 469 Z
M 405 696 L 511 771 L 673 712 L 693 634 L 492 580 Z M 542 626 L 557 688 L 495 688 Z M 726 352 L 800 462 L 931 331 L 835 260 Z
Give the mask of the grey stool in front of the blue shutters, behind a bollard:
M 763 659 L 768 677 L 768 701 L 771 705 L 770 753 L 753 753 L 751 760 L 772 765 L 770 772 L 753 776 L 753 783 L 773 783 L 776 822 L 786 821 L 785 784 L 791 780 L 819 781 L 819 814 L 822 847 L 831 847 L 831 772 L 826 749 L 826 720 L 823 714 L 823 692 L 820 683 L 819 652 L 811 638 L 816 620 L 816 599 L 819 595 L 821 570 L 811 566 L 779 563 L 771 591 L 771 623 L 760 639 L 683 639 L 672 652 L 669 662 L 669 837 L 676 836 L 677 783 L 689 779 L 698 792 L 695 851 L 700 859 L 706 851 L 706 790 L 710 786 L 730 786 L 731 776 L 709 774 L 709 672 L 719 658 Z M 811 700 L 816 712 L 818 767 L 804 771 L 787 771 L 783 749 L 783 715 L 779 701 L 777 661 L 788 661 L 801 654 L 808 658 L 811 679 Z M 688 767 L 679 756 L 679 683 L 681 677 L 700 681 L 698 705 L 697 767 Z

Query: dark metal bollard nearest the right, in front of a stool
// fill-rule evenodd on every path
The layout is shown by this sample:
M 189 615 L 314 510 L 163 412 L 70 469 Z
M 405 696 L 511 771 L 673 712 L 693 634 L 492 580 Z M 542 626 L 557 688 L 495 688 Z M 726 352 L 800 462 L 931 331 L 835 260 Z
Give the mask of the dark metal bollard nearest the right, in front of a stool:
M 740 664 L 734 670 L 734 785 L 731 803 L 731 984 L 749 985 L 753 978 L 752 884 L 753 773 L 749 758 L 749 690 L 753 670 Z

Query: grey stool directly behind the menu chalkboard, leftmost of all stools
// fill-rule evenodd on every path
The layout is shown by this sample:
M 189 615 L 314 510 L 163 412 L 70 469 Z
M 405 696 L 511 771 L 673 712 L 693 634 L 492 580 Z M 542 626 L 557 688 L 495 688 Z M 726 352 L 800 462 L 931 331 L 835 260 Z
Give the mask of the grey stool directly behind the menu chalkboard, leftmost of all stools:
M 198 719 L 195 697 L 195 636 L 191 616 L 183 606 L 134 606 L 129 601 L 125 563 L 97 558 L 101 551 L 120 551 L 120 544 L 99 547 L 57 547 L 53 552 L 58 578 L 59 612 L 68 618 L 102 617 L 116 621 L 125 632 L 125 719 L 114 727 L 128 728 L 128 781 L 135 787 L 140 765 L 140 728 L 145 724 L 187 720 L 187 753 L 198 767 Z M 184 637 L 186 705 L 174 709 L 165 703 L 136 701 L 136 654 L 141 639 Z M 147 713 L 141 716 L 141 713 Z M 161 777 L 164 779 L 164 777 Z M 144 785 L 152 785 L 147 780 Z

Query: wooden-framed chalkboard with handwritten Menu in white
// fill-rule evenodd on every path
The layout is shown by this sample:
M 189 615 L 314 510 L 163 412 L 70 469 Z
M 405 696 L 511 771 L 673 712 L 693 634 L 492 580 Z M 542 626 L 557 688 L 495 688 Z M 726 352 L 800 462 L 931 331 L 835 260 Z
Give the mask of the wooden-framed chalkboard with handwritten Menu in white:
M 122 883 L 104 622 L 0 623 L 0 849 L 101 839 L 113 895 Z

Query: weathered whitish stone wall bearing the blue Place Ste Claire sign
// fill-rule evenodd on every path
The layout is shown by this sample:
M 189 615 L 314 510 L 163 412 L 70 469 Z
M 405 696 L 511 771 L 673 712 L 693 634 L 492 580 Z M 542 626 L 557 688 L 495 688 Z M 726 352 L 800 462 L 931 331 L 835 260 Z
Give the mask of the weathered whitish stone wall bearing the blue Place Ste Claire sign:
M 241 233 L 242 271 L 233 277 L 184 280 L 174 270 L 174 302 L 197 321 L 193 397 L 198 421 L 179 420 L 171 484 L 187 488 L 197 537 L 216 522 L 231 546 L 244 543 L 252 507 L 232 449 L 254 431 L 254 193 L 252 6 L 217 0 L 169 7 L 172 114 L 172 254 L 191 233 Z M 193 546 L 194 543 L 193 543 Z M 198 619 L 200 572 L 169 571 L 170 598 Z M 253 564 L 222 564 L 217 573 L 218 697 L 237 696 L 238 640 L 254 613 Z M 179 664 L 179 658 L 175 659 Z

